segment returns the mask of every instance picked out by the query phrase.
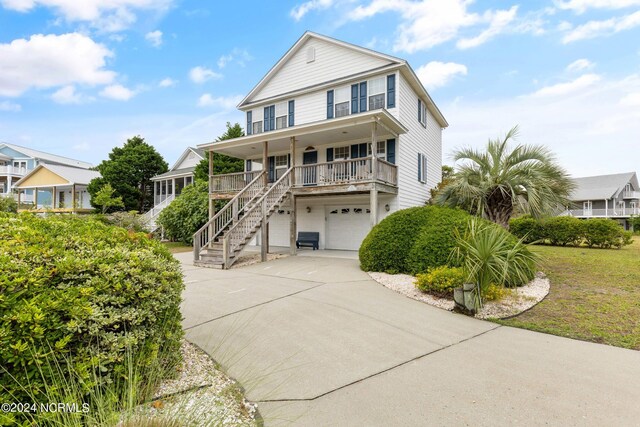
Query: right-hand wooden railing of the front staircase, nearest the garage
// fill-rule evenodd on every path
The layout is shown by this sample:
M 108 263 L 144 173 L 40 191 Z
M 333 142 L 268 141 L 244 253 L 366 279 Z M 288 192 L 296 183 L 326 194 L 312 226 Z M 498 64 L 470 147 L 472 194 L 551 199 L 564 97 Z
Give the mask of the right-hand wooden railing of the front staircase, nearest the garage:
M 289 168 L 224 234 L 222 259 L 225 268 L 231 267 L 231 254 L 247 243 L 247 238 L 255 232 L 262 220 L 266 220 L 273 207 L 287 195 L 291 189 L 292 169 Z

